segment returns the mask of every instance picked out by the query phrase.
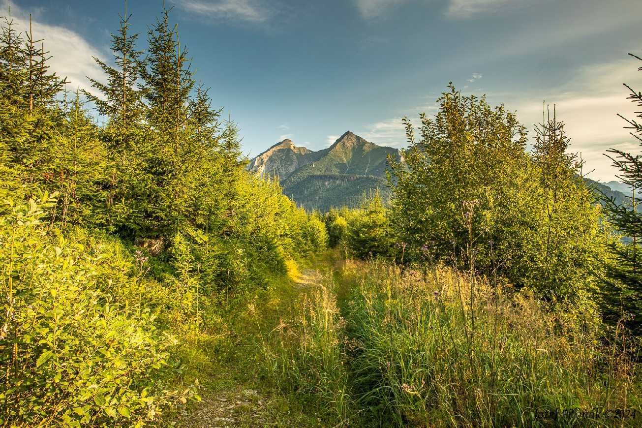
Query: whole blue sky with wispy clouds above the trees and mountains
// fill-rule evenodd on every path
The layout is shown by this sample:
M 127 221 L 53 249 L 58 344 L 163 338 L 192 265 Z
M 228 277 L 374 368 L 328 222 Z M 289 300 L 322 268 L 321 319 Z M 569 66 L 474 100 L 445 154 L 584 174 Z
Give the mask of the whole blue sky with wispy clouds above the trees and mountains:
M 211 87 L 257 155 L 292 139 L 319 150 L 346 130 L 405 145 L 401 117 L 431 114 L 448 81 L 517 110 L 529 128 L 557 104 L 589 176 L 611 180 L 609 147 L 639 151 L 616 113 L 632 116 L 621 83 L 642 90 L 640 0 L 167 0 L 196 78 Z M 70 88 L 101 78 L 123 1 L 0 0 L 33 14 L 52 66 Z M 161 0 L 130 0 L 134 30 Z M 144 47 L 144 46 L 141 46 Z

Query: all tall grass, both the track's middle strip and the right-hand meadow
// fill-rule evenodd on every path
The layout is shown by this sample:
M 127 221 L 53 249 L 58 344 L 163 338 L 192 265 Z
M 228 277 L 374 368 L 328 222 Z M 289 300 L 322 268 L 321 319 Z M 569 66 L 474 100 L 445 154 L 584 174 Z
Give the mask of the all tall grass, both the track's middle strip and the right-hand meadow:
M 383 426 L 640 422 L 608 412 L 642 410 L 622 330 L 610 344 L 589 316 L 551 312 L 528 293 L 449 268 L 423 275 L 349 261 L 340 273 L 351 286 L 345 325 L 325 287 L 300 305 L 300 329 L 277 330 L 268 355 L 280 386 L 333 406 L 346 395 L 336 424 L 358 413 L 361 424 Z

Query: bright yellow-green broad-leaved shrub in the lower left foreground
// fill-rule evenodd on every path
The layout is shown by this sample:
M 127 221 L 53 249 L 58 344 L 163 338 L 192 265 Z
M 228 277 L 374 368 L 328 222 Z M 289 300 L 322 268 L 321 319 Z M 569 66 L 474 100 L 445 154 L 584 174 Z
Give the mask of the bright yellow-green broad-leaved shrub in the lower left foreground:
M 101 289 L 104 254 L 51 236 L 39 202 L 8 203 L 0 217 L 3 266 L 0 404 L 4 424 L 142 426 L 189 390 L 165 391 L 175 343 L 136 300 Z M 137 278 L 111 278 L 112 291 Z

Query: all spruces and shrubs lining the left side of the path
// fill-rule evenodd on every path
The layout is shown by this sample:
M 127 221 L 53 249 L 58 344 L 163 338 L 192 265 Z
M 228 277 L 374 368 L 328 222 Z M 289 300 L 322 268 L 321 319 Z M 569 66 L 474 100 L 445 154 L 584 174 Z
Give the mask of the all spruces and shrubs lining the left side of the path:
M 318 216 L 245 171 L 168 10 L 144 49 L 129 19 L 76 93 L 31 31 L 2 24 L 3 425 L 158 424 L 195 395 L 168 389 L 186 341 L 325 248 Z

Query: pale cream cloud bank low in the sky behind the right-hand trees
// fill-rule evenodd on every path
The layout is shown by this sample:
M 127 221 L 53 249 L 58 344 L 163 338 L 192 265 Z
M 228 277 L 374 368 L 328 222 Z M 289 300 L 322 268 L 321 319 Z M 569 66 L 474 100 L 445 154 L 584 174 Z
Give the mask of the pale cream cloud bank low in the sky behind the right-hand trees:
M 622 83 L 628 82 L 636 90 L 642 90 L 641 73 L 636 60 L 622 60 L 610 64 L 596 64 L 582 67 L 573 73 L 573 80 L 548 89 L 546 93 L 529 91 L 519 93 L 489 92 L 491 105 L 504 103 L 508 110 L 517 110 L 519 121 L 532 130 L 535 123 L 542 121 L 542 99 L 556 105 L 557 119 L 565 123 L 566 134 L 571 137 L 570 150 L 581 153 L 586 162 L 584 173 L 594 180 L 613 180 L 618 171 L 611 167 L 611 161 L 603 155 L 609 148 L 639 153 L 640 146 L 625 130 L 625 122 L 617 116 L 635 117 L 636 105 L 627 99 L 628 90 Z M 434 114 L 438 107 L 422 105 L 408 108 L 408 116 L 417 126 L 418 113 Z M 405 129 L 401 117 L 379 121 L 358 132 L 361 137 L 375 144 L 406 146 Z M 593 172 L 591 172 L 593 171 Z

